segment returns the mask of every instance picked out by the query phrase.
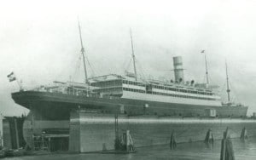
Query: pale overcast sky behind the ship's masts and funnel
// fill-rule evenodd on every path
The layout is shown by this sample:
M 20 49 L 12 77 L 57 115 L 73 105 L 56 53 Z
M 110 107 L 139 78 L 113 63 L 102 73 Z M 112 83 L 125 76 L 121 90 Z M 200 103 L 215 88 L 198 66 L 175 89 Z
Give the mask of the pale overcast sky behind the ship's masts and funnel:
M 143 77 L 173 79 L 172 57 L 183 57 L 185 81 L 210 83 L 226 100 L 227 60 L 232 100 L 256 111 L 256 2 L 253 0 L 181 1 L 6 1 L 0 5 L 0 111 L 27 110 L 15 104 L 19 89 L 55 80 L 83 81 L 78 19 L 89 76 L 131 70 L 131 28 L 137 69 Z M 88 63 L 87 63 L 88 65 Z

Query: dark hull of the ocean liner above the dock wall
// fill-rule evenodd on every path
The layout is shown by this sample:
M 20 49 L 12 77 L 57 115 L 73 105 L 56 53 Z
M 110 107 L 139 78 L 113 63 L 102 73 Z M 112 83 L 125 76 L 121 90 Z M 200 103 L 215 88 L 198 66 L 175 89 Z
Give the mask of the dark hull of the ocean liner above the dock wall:
M 124 98 L 99 98 L 71 94 L 26 91 L 12 94 L 15 102 L 28 109 L 38 111 L 38 117 L 48 119 L 69 119 L 73 109 L 115 113 L 120 110 L 127 115 L 158 115 L 179 117 L 207 117 L 208 110 L 215 110 L 217 117 L 246 117 L 246 106 L 197 106 L 163 103 L 149 100 Z M 148 106 L 148 107 L 145 107 Z M 58 114 L 55 114 L 57 112 Z

